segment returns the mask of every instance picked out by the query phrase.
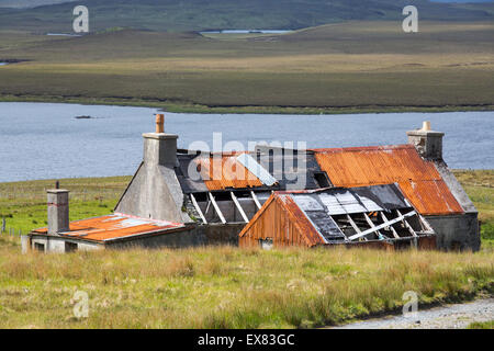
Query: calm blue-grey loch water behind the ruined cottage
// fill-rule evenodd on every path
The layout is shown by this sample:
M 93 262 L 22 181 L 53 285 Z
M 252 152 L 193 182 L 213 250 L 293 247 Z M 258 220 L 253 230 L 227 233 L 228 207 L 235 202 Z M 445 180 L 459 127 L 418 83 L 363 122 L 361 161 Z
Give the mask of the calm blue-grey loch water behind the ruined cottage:
M 142 160 L 142 133 L 153 132 L 156 109 L 50 103 L 0 103 L 0 182 L 134 173 Z M 91 120 L 75 116 L 90 115 Z M 424 120 L 446 133 L 452 168 L 494 169 L 494 112 L 355 115 L 166 114 L 179 147 L 194 140 L 223 143 L 306 141 L 308 147 L 406 143 L 406 131 Z

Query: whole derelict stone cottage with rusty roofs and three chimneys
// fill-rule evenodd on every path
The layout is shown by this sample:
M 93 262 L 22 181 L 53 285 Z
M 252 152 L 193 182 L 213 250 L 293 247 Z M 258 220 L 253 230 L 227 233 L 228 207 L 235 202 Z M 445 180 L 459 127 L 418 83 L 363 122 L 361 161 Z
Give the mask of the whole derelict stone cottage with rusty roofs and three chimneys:
M 48 191 L 48 226 L 24 251 L 101 248 L 373 245 L 480 249 L 478 211 L 442 160 L 444 134 L 407 132 L 408 144 L 254 151 L 177 148 L 144 134 L 144 159 L 114 214 L 69 223 L 69 193 Z

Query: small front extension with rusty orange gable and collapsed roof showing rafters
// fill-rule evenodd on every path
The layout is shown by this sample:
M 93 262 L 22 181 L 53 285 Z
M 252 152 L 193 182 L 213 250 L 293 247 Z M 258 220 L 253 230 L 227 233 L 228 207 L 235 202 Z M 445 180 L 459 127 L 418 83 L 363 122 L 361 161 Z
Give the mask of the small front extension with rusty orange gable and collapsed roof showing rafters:
M 431 237 L 427 220 L 396 184 L 274 192 L 240 233 L 240 242 L 270 239 L 312 247 Z

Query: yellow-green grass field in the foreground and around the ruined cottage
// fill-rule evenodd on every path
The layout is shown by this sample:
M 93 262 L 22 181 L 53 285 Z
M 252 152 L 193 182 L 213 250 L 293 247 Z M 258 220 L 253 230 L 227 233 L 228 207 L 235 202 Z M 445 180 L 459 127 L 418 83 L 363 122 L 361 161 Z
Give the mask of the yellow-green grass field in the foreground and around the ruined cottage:
M 481 252 L 233 247 L 23 256 L 0 236 L 0 328 L 308 328 L 494 293 L 494 171 L 456 171 L 484 222 Z M 130 177 L 61 180 L 70 217 L 108 214 Z M 0 183 L 8 227 L 46 224 L 53 181 Z M 89 318 L 72 309 L 89 295 Z M 487 327 L 487 326 L 472 326 Z

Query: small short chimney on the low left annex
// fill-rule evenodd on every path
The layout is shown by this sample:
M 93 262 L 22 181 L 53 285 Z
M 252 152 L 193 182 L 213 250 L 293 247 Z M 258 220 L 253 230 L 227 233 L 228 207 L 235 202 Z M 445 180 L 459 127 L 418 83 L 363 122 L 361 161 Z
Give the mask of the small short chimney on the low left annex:
M 48 234 L 69 231 L 69 191 L 52 189 L 48 195 Z

